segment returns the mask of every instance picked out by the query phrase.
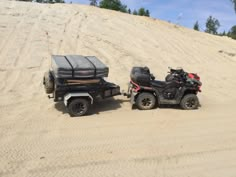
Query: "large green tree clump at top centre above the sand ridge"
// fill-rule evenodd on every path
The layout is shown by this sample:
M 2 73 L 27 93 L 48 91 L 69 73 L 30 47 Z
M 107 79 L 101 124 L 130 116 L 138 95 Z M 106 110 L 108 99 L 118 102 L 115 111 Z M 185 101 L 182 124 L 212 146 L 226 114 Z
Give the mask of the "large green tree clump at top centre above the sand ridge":
M 127 12 L 127 6 L 122 4 L 120 0 L 102 0 L 99 4 L 99 7 L 104 9 Z

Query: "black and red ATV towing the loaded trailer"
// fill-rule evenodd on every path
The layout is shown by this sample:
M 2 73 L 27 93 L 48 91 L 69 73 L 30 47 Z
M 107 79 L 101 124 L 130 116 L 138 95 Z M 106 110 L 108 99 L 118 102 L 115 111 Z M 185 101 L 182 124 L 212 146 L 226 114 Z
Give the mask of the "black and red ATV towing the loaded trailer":
M 130 78 L 126 95 L 141 110 L 153 109 L 156 105 L 180 105 L 185 110 L 199 107 L 197 94 L 202 83 L 197 74 L 171 70 L 167 81 L 159 81 L 149 68 L 133 67 Z

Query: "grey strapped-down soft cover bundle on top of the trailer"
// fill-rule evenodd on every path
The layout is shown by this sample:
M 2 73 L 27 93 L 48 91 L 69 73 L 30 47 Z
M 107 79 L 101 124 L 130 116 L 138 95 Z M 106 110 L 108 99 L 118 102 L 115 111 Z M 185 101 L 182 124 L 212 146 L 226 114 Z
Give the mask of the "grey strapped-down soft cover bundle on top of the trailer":
M 52 71 L 57 78 L 90 79 L 108 77 L 109 68 L 94 56 L 53 55 Z

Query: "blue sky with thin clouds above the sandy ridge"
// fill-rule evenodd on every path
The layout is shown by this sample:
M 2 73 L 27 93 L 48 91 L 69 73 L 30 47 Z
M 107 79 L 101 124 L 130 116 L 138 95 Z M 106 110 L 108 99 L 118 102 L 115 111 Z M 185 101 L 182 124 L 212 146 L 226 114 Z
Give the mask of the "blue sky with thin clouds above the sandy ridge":
M 89 0 L 66 0 L 73 3 L 89 4 Z M 230 0 L 121 0 L 131 10 L 144 7 L 151 17 L 192 28 L 199 21 L 205 29 L 206 19 L 212 15 L 220 21 L 219 31 L 228 31 L 236 25 L 236 13 Z

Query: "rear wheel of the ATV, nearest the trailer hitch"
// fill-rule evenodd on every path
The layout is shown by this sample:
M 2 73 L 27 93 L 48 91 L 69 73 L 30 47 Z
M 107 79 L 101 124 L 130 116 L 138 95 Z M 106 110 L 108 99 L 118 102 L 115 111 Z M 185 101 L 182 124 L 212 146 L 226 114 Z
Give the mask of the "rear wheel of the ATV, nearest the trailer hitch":
M 140 93 L 136 99 L 136 105 L 141 110 L 153 109 L 156 105 L 156 98 L 151 93 Z

